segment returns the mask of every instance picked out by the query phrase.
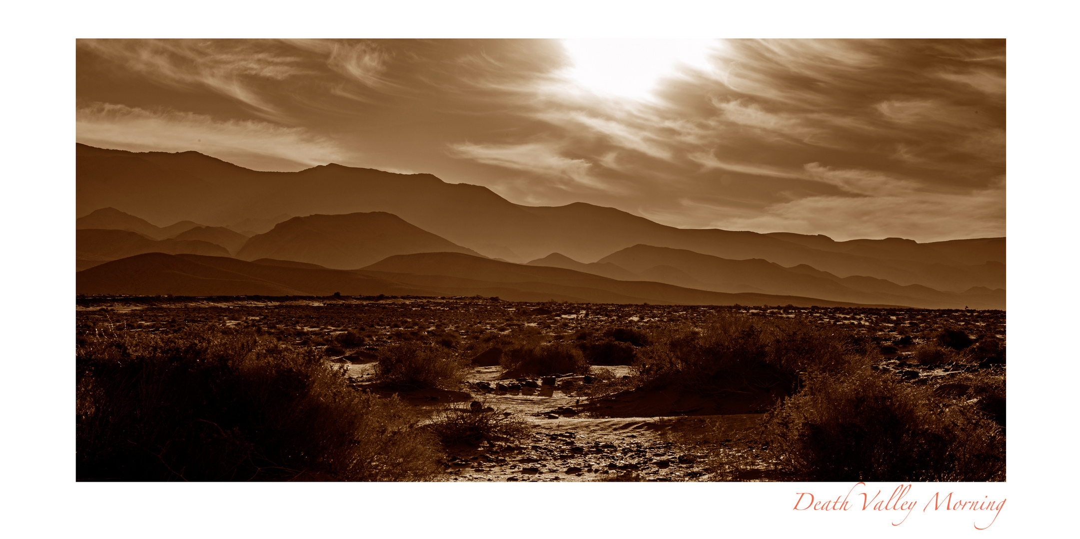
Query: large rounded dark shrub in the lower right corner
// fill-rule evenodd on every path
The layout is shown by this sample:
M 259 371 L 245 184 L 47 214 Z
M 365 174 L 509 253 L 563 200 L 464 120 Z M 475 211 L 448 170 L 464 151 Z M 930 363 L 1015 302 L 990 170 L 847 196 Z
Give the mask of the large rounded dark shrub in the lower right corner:
M 770 452 L 806 481 L 1004 480 L 1000 427 L 872 372 L 812 375 L 766 426 Z

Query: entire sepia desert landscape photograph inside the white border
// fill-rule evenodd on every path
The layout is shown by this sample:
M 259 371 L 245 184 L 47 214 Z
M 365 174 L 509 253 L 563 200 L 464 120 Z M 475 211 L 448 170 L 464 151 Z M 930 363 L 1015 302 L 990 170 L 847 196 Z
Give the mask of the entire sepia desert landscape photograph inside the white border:
M 75 45 L 78 482 L 1008 478 L 1004 39 Z

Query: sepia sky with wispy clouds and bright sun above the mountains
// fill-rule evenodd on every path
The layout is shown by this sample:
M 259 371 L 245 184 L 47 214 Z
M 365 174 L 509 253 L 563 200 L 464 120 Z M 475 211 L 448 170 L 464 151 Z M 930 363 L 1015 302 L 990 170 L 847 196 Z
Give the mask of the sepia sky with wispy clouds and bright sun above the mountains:
M 78 40 L 77 140 L 678 227 L 1005 233 L 1004 40 Z

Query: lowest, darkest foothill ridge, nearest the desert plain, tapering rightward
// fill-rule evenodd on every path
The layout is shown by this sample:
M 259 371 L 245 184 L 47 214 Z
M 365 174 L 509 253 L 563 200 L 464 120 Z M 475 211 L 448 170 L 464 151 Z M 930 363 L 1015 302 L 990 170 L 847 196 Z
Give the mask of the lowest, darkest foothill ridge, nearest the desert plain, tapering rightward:
M 621 281 L 572 270 L 500 262 L 460 252 L 399 254 L 363 270 L 282 261 L 145 253 L 78 272 L 76 291 L 103 295 L 442 295 L 510 301 L 858 306 L 812 298 L 725 294 Z

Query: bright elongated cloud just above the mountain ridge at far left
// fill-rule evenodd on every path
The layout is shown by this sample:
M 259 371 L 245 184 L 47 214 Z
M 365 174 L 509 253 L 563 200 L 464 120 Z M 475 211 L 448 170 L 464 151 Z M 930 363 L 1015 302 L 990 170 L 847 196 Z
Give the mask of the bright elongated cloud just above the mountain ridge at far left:
M 259 165 L 270 162 L 298 170 L 350 157 L 333 140 L 300 127 L 217 121 L 205 114 L 112 103 L 79 109 L 76 139 L 90 146 L 138 151 L 194 150 L 255 169 L 265 169 Z

